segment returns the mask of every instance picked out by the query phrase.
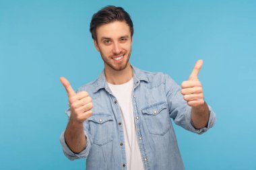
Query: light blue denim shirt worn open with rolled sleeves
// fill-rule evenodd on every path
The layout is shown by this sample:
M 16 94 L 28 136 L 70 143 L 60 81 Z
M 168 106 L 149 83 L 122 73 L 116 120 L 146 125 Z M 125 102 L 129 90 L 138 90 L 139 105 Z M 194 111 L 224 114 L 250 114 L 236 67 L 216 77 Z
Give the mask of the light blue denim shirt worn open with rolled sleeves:
M 133 114 L 137 142 L 146 170 L 185 169 L 172 126 L 175 124 L 202 134 L 214 126 L 216 117 L 210 108 L 207 126 L 195 129 L 191 107 L 183 99 L 181 87 L 164 73 L 150 73 L 133 68 Z M 92 97 L 93 114 L 84 122 L 87 142 L 81 153 L 73 153 L 61 134 L 63 152 L 70 160 L 86 159 L 86 169 L 127 169 L 121 109 L 111 93 L 104 71 L 96 81 L 77 89 Z M 70 116 L 70 110 L 66 111 Z

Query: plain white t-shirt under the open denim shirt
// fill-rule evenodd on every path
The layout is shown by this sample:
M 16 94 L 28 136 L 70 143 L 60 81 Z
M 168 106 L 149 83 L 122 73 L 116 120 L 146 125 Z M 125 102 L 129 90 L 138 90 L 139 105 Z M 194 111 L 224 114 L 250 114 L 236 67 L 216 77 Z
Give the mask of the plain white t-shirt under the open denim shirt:
M 113 95 L 117 98 L 122 114 L 123 131 L 125 135 L 125 153 L 127 159 L 128 170 L 143 170 L 143 162 L 133 116 L 133 104 L 131 93 L 133 90 L 133 79 L 121 85 L 112 85 L 108 83 L 108 87 Z

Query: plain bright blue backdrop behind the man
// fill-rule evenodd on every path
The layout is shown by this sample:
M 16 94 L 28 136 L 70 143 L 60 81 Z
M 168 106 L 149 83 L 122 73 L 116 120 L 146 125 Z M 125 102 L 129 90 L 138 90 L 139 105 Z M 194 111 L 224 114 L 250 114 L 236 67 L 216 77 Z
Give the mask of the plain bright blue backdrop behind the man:
M 197 59 L 216 126 L 197 135 L 175 126 L 187 170 L 256 169 L 256 2 L 0 1 L 0 169 L 84 169 L 59 136 L 67 95 L 103 69 L 89 32 L 105 5 L 130 13 L 131 63 L 187 80 Z M 157 160 L 156 160 L 157 161 Z

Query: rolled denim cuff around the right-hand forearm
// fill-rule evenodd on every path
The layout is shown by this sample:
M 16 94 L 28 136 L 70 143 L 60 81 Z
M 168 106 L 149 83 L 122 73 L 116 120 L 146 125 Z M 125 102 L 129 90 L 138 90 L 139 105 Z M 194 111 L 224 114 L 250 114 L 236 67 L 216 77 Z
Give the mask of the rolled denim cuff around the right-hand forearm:
M 190 114 L 188 114 L 187 116 L 187 121 L 189 121 L 188 125 L 189 125 L 189 130 L 191 130 L 191 132 L 195 132 L 197 134 L 203 134 L 204 132 L 206 132 L 207 130 L 209 130 L 210 128 L 212 128 L 212 126 L 214 126 L 215 122 L 216 122 L 216 115 L 214 113 L 214 111 L 212 110 L 212 108 L 210 107 L 210 105 L 208 105 L 209 108 L 209 120 L 207 123 L 207 126 L 200 128 L 200 129 L 196 129 L 193 124 L 192 124 L 192 120 L 191 120 L 191 112 Z

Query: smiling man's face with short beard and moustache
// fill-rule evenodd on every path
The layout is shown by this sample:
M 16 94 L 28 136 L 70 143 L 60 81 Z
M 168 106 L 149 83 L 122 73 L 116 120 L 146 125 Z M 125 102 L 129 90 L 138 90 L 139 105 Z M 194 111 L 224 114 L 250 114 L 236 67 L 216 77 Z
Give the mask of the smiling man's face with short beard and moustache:
M 96 49 L 104 60 L 105 69 L 121 71 L 127 67 L 131 55 L 131 32 L 125 22 L 111 22 L 96 29 Z

